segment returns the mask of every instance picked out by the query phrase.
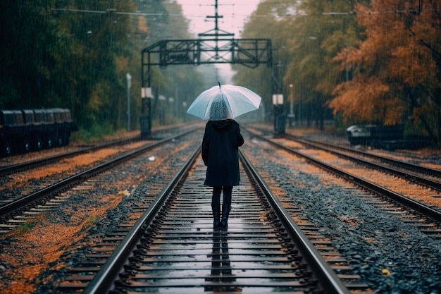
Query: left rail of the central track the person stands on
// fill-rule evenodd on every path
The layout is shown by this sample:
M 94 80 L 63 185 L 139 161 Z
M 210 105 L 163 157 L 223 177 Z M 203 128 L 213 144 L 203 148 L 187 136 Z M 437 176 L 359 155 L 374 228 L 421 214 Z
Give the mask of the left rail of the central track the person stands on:
M 142 231 L 145 229 L 145 225 L 154 219 L 154 216 L 156 216 L 163 203 L 166 202 L 169 197 L 170 192 L 175 189 L 176 185 L 182 180 L 182 177 L 190 170 L 200 151 L 201 147 L 198 147 L 192 156 L 187 159 L 178 173 L 175 174 L 170 183 L 163 188 L 159 196 L 156 197 L 156 200 L 149 206 L 149 209 L 142 214 L 141 218 L 135 223 L 129 233 L 125 235 L 125 238 L 106 260 L 103 267 L 101 267 L 97 275 L 95 275 L 92 281 L 90 281 L 83 293 L 102 294 L 108 293 L 108 290 L 111 290 L 114 285 L 113 281 L 118 276 L 121 267 L 132 254 L 132 250 L 139 242 L 139 238 L 142 237 Z

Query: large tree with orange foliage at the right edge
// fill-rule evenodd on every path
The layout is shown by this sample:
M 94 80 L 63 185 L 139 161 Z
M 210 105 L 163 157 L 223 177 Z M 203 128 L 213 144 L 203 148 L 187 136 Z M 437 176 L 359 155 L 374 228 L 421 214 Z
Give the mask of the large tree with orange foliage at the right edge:
M 354 79 L 337 85 L 328 105 L 348 123 L 406 123 L 441 140 L 441 4 L 373 0 L 356 5 L 366 39 L 334 61 Z

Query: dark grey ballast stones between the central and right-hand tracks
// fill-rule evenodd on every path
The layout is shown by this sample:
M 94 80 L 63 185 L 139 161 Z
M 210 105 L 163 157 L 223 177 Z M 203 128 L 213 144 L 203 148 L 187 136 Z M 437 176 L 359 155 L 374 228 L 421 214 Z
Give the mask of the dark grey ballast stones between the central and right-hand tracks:
M 284 162 L 266 160 L 261 169 L 270 173 L 309 221 L 333 240 L 333 246 L 358 270 L 354 274 L 361 276 L 361 282 L 376 293 L 441 293 L 439 241 L 364 202 L 361 196 L 366 192 L 333 183 L 323 186 L 320 176 L 298 171 L 272 148 L 260 145 L 248 151 L 256 157 L 279 157 L 278 162 Z M 299 185 L 286 188 L 292 181 Z M 355 225 L 340 221 L 340 216 L 356 219 Z

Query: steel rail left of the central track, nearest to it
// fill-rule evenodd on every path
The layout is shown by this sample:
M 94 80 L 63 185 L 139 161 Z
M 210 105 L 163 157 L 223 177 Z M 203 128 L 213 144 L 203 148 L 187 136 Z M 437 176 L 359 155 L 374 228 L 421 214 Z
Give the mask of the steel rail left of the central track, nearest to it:
M 108 160 L 102 164 L 92 167 L 91 169 L 87 169 L 86 171 L 82 171 L 80 173 L 76 173 L 73 176 L 65 178 L 63 180 L 58 181 L 52 185 L 46 186 L 36 192 L 32 192 L 29 195 L 25 195 L 23 197 L 19 197 L 18 199 L 12 200 L 11 202 L 6 202 L 0 206 L 0 219 L 1 219 L 1 227 L 2 228 L 14 228 L 16 223 L 8 223 L 11 216 L 15 216 L 17 214 L 21 214 L 23 210 L 32 209 L 40 204 L 40 202 L 48 202 L 52 197 L 56 196 L 56 193 L 73 187 L 77 183 L 81 183 L 87 178 L 94 176 L 97 173 L 101 173 L 102 171 L 106 171 L 108 169 L 117 166 L 118 164 L 123 163 L 124 161 L 128 161 L 134 157 L 137 157 L 139 154 L 147 152 L 147 150 L 152 149 L 154 147 L 158 147 L 163 145 L 166 142 L 175 140 L 178 137 L 182 137 L 183 135 L 187 135 L 188 133 L 192 133 L 197 129 L 186 130 L 183 133 L 178 135 L 173 135 L 171 137 L 166 137 L 163 140 L 159 140 L 157 142 L 153 142 L 148 145 L 144 145 L 139 147 L 131 152 L 120 155 L 119 157 Z

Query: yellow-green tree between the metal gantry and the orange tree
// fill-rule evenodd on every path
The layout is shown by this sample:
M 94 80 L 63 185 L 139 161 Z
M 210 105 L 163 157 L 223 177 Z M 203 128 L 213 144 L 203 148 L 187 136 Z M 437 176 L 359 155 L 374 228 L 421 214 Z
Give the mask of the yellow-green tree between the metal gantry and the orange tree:
M 303 1 L 292 17 L 295 27 L 289 40 L 290 66 L 285 75 L 292 85 L 297 118 L 323 129 L 329 117 L 326 103 L 333 98 L 335 85 L 351 78 L 352 68 L 333 63 L 337 52 L 354 44 L 359 35 L 349 1 Z

